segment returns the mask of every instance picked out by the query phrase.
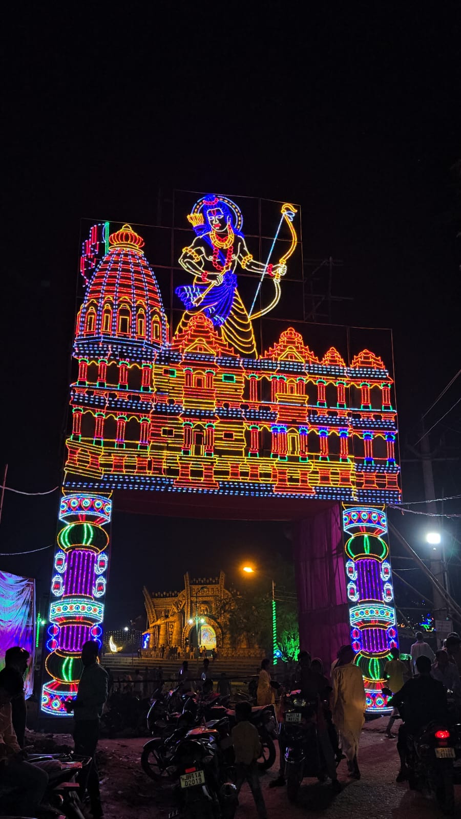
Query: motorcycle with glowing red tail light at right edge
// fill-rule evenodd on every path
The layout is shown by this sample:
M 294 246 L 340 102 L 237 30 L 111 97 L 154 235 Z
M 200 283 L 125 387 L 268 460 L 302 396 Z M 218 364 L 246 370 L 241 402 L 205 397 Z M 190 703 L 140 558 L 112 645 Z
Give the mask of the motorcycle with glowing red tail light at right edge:
M 456 734 L 449 727 L 431 722 L 407 738 L 409 787 L 434 794 L 440 809 L 454 810 L 454 760 Z

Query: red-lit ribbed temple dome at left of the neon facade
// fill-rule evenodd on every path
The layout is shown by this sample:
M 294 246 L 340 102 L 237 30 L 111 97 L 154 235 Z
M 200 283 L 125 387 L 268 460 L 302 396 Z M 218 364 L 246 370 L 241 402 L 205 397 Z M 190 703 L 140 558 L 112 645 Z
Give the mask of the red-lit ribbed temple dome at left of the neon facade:
M 79 356 L 153 356 L 168 342 L 167 318 L 144 239 L 129 224 L 109 237 L 109 251 L 87 287 L 77 316 L 75 351 Z

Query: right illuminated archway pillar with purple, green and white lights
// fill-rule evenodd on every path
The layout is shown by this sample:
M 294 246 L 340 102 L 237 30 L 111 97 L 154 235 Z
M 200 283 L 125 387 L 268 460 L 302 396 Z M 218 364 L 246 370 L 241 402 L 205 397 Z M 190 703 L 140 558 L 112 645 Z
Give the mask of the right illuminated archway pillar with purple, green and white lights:
M 355 663 L 362 669 L 367 711 L 388 711 L 384 666 L 399 638 L 384 506 L 343 504 L 349 622 Z

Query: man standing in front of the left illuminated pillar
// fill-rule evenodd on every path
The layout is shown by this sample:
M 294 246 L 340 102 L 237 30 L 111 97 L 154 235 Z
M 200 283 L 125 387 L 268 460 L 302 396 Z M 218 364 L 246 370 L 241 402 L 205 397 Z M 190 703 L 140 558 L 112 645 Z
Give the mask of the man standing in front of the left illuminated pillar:
M 88 787 L 91 812 L 94 819 L 103 816 L 99 794 L 99 776 L 96 766 L 96 748 L 99 738 L 99 719 L 107 700 L 107 672 L 98 663 L 98 643 L 88 640 L 82 645 L 81 659 L 84 664 L 76 699 L 66 701 L 66 710 L 74 712 L 75 753 L 91 757 L 86 782 L 80 781 L 84 791 Z

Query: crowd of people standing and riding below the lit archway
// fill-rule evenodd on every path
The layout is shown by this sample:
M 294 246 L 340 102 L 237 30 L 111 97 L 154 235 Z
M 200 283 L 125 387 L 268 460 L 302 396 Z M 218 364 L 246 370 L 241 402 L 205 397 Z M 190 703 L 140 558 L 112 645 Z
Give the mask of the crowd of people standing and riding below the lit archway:
M 98 650 L 98 643 L 94 640 L 89 640 L 82 646 L 81 659 L 84 670 L 77 695 L 75 699 L 66 700 L 65 704 L 67 712 L 72 713 L 74 717 L 75 752 L 92 760 L 82 772 L 80 789 L 82 793 L 88 792 L 94 819 L 103 817 L 96 763 L 99 722 L 107 695 L 114 685 L 112 674 L 107 673 L 98 662 Z M 400 658 L 399 649 L 392 649 L 390 655 L 384 671 L 393 712 L 386 728 L 386 735 L 390 739 L 395 738 L 392 726 L 403 712 L 404 722 L 399 727 L 397 741 L 400 759 L 397 781 L 404 781 L 408 776 L 405 763 L 407 736 L 419 731 L 433 720 L 443 722 L 446 719 L 447 691 L 454 697 L 457 707 L 461 708 L 461 638 L 452 632 L 445 640 L 444 647 L 434 653 L 424 640 L 422 632 L 417 632 L 408 662 Z M 336 769 L 341 759 L 346 760 L 349 776 L 354 779 L 361 776 L 358 767 L 358 744 L 364 722 L 366 696 L 363 675 L 354 663 L 354 658 L 352 646 L 343 645 L 331 665 L 331 681 L 328 681 L 323 671 L 322 660 L 311 659 L 307 651 L 302 651 L 297 667 L 294 667 L 294 663 L 286 664 L 285 679 L 282 683 L 285 690 L 299 688 L 307 702 L 318 705 L 318 742 L 334 790 L 340 790 Z M 54 809 L 43 803 L 48 775 L 40 767 L 30 764 L 25 752 L 24 677 L 29 660 L 30 654 L 25 649 L 13 646 L 7 650 L 5 668 L 0 672 L 0 788 L 7 785 L 19 789 L 16 800 L 18 812 L 24 815 L 50 817 Z M 178 685 L 185 692 L 192 693 L 198 690 L 201 698 L 211 697 L 214 684 L 208 657 L 203 658 L 201 672 L 192 672 L 189 670 L 188 660 L 183 660 L 178 673 Z M 137 669 L 134 678 L 126 674 L 121 686 L 123 690 L 130 691 L 135 696 L 152 696 L 155 690 L 162 690 L 162 667 L 159 666 L 155 671 L 146 667 L 144 674 Z M 276 689 L 279 686 L 280 683 L 272 680 L 270 661 L 262 660 L 254 690 L 258 705 L 274 704 Z M 217 681 L 217 694 L 229 696 L 230 692 L 231 681 L 225 672 L 221 672 Z M 328 703 L 327 708 L 325 703 Z M 235 746 L 238 790 L 244 781 L 249 783 L 258 815 L 261 819 L 266 819 L 257 766 L 261 746 L 258 731 L 250 722 L 251 705 L 238 704 L 236 716 L 237 725 L 232 731 L 232 741 Z M 281 744 L 279 776 L 272 781 L 270 787 L 285 785 L 285 748 L 282 740 L 279 742 Z

